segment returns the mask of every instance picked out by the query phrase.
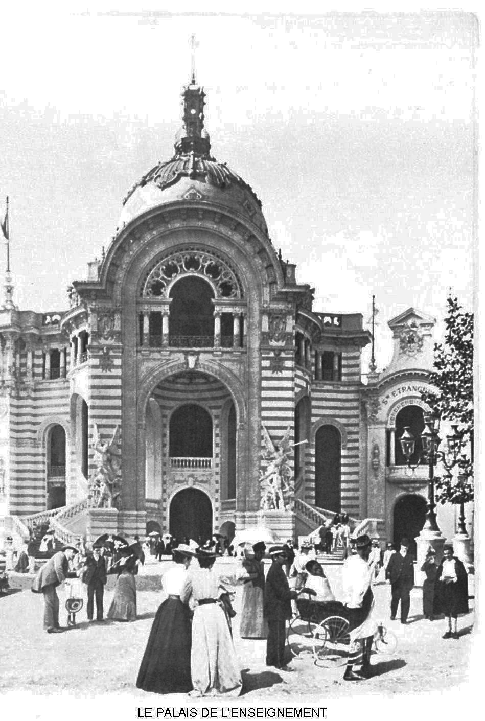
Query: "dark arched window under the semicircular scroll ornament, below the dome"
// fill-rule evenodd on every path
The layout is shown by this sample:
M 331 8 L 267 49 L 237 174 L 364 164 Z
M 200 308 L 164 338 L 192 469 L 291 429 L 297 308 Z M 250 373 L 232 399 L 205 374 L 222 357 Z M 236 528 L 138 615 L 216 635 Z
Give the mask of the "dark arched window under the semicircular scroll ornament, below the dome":
M 170 291 L 170 345 L 210 348 L 214 345 L 213 290 L 203 278 L 182 278 Z

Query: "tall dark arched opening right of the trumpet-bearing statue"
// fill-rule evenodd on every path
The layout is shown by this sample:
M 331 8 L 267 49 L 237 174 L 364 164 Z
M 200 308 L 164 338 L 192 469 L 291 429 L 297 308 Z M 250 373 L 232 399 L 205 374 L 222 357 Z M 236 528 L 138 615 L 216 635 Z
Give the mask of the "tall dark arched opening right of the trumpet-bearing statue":
M 334 425 L 315 434 L 315 505 L 340 513 L 342 438 Z

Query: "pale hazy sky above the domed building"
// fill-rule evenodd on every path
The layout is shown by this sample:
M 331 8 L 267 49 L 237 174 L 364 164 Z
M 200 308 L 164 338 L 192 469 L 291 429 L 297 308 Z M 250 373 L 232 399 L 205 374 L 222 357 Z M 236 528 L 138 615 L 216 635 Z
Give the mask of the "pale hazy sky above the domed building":
M 20 309 L 67 308 L 128 190 L 172 156 L 192 33 L 212 153 L 262 201 L 315 310 L 368 322 L 375 293 L 381 369 L 389 319 L 414 306 L 440 333 L 449 288 L 473 307 L 471 14 L 95 5 L 2 11 L 0 213 L 9 195 Z

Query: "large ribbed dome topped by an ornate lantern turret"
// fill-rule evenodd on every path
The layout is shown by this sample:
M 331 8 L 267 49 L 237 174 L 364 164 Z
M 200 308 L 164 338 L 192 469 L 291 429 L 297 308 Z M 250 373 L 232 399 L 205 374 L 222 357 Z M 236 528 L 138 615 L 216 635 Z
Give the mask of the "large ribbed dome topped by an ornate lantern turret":
M 177 133 L 175 155 L 153 167 L 123 201 L 119 226 L 157 205 L 176 200 L 209 202 L 248 218 L 267 235 L 261 201 L 252 188 L 226 163 L 210 156 L 210 137 L 204 130 L 205 93 L 192 83 L 184 88 L 184 126 Z

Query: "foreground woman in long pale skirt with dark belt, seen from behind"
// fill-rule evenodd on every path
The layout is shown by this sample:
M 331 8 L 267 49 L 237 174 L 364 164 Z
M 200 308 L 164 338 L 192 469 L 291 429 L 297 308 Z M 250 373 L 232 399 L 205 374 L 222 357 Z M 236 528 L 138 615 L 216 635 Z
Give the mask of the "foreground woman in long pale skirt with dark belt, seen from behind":
M 241 673 L 221 594 L 227 588 L 213 569 L 215 554 L 197 551 L 199 568 L 192 568 L 182 586 L 180 599 L 194 609 L 190 668 L 191 696 L 239 696 Z

